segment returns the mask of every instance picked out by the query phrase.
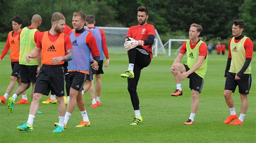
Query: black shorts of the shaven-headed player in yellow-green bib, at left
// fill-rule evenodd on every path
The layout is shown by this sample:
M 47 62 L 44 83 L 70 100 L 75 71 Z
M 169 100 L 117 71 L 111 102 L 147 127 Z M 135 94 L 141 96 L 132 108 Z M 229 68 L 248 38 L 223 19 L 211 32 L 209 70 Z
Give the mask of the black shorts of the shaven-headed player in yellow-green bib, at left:
M 37 65 L 27 66 L 21 65 L 21 82 L 22 83 L 36 83 Z

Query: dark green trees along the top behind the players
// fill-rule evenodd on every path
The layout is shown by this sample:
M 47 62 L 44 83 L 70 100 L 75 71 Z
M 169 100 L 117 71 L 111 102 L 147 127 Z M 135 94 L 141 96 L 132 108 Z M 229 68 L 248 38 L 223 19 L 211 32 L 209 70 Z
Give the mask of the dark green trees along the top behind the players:
M 12 30 L 11 19 L 15 16 L 23 18 L 24 27 L 30 25 L 32 15 L 38 13 L 43 18 L 40 31 L 51 27 L 52 11 L 62 12 L 70 26 L 72 13 L 83 11 L 96 16 L 96 26 L 130 27 L 137 24 L 140 5 L 149 9 L 148 22 L 155 25 L 162 39 L 187 38 L 192 23 L 203 26 L 201 37 L 206 41 L 227 39 L 232 36 L 234 19 L 244 20 L 244 34 L 256 39 L 254 0 L 1 0 L 0 41 Z

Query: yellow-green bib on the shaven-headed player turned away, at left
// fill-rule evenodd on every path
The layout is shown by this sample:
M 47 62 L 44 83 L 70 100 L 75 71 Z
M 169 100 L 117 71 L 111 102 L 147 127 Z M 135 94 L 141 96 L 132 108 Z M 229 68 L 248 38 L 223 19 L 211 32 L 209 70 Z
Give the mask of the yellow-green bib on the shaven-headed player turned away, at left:
M 36 47 L 36 42 L 34 40 L 34 35 L 36 31 L 37 31 L 36 28 L 29 29 L 28 27 L 24 27 L 20 34 L 19 64 L 21 65 L 28 65 L 28 66 L 38 65 L 37 58 L 30 59 L 30 62 L 26 62 L 26 55 L 31 53 Z

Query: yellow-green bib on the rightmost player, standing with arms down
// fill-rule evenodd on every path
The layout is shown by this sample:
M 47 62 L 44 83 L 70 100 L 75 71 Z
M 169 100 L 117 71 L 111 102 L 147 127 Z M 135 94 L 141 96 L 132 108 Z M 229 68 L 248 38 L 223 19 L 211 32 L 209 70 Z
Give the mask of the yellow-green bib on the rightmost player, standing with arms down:
M 230 65 L 230 71 L 231 73 L 238 73 L 241 69 L 242 66 L 244 66 L 245 63 L 245 47 L 244 43 L 245 40 L 248 37 L 242 38 L 238 43 L 235 43 L 234 37 L 232 38 L 230 42 L 230 51 L 231 51 L 231 65 Z M 251 74 L 251 63 L 248 66 L 248 68 L 245 70 L 244 74 Z

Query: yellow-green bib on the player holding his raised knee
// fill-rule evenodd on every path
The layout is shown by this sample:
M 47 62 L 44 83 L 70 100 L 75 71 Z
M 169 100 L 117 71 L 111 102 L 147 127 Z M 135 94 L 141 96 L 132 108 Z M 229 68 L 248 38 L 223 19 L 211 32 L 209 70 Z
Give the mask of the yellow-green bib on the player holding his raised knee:
M 187 49 L 187 67 L 188 68 L 192 68 L 197 60 L 198 60 L 198 56 L 199 56 L 199 46 L 204 43 L 203 41 L 199 41 L 197 46 L 194 47 L 194 49 L 191 49 L 190 47 L 190 40 L 187 40 L 187 44 L 186 44 L 186 49 Z M 203 64 L 196 70 L 194 71 L 196 74 L 198 74 L 200 77 L 204 78 L 205 77 L 205 73 L 206 73 L 206 69 L 207 69 L 207 59 L 208 56 L 206 56 Z

